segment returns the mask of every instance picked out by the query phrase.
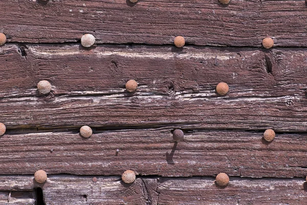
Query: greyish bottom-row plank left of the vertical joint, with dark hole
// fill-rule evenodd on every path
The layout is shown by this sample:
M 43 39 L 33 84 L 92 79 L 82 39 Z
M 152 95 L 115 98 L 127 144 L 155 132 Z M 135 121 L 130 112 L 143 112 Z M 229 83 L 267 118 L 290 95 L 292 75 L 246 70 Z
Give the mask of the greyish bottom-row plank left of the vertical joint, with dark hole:
M 157 188 L 156 179 L 137 179 L 133 184 L 126 185 L 119 176 L 96 177 L 97 182 L 93 182 L 93 176 L 48 175 L 45 183 L 38 184 L 34 182 L 34 175 L 1 175 L 0 190 L 5 191 L 0 192 L 0 204 L 34 204 L 33 188 L 42 189 L 46 205 L 145 204 L 149 197 L 157 204 L 158 195 L 152 195 L 144 187 L 146 183 L 148 189 Z M 8 203 L 9 192 L 11 197 Z

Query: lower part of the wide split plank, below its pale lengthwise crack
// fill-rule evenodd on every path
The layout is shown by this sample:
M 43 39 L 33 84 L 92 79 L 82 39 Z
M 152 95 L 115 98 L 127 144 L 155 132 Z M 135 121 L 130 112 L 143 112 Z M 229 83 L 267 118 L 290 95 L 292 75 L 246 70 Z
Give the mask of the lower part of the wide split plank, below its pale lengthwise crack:
M 288 102 L 293 103 L 288 106 Z M 0 121 L 13 128 L 183 127 L 305 132 L 304 97 L 206 98 L 163 95 L 3 99 Z

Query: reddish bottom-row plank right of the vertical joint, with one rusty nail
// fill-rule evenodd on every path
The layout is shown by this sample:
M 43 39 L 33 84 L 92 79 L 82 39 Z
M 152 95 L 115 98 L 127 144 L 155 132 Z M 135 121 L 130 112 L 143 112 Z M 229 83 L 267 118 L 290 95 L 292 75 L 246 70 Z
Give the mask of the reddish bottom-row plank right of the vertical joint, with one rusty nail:
M 211 178 L 158 180 L 159 205 L 172 204 L 305 204 L 303 179 L 242 179 L 230 177 L 221 189 Z

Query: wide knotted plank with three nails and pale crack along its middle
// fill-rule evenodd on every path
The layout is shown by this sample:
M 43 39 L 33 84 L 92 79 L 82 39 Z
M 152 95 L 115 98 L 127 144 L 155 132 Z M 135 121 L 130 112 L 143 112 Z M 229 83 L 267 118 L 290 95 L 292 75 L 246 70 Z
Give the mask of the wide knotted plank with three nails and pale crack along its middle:
M 306 49 L 23 47 L 3 47 L 0 57 L 0 121 L 8 129 L 306 130 Z M 133 94 L 124 89 L 131 78 L 139 83 Z M 39 95 L 41 79 L 51 82 L 51 94 Z M 230 86 L 223 97 L 215 93 L 221 81 Z

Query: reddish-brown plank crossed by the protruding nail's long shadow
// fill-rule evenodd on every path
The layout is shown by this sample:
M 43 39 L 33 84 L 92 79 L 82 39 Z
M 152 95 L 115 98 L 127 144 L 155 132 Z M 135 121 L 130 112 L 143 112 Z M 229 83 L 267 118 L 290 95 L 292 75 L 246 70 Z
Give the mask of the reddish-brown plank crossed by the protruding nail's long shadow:
M 262 132 L 186 130 L 174 145 L 172 129 L 96 130 L 85 139 L 76 132 L 5 134 L 0 172 L 34 174 L 243 177 L 306 175 L 305 134 L 279 134 L 271 144 Z M 117 153 L 117 149 L 119 152 Z

